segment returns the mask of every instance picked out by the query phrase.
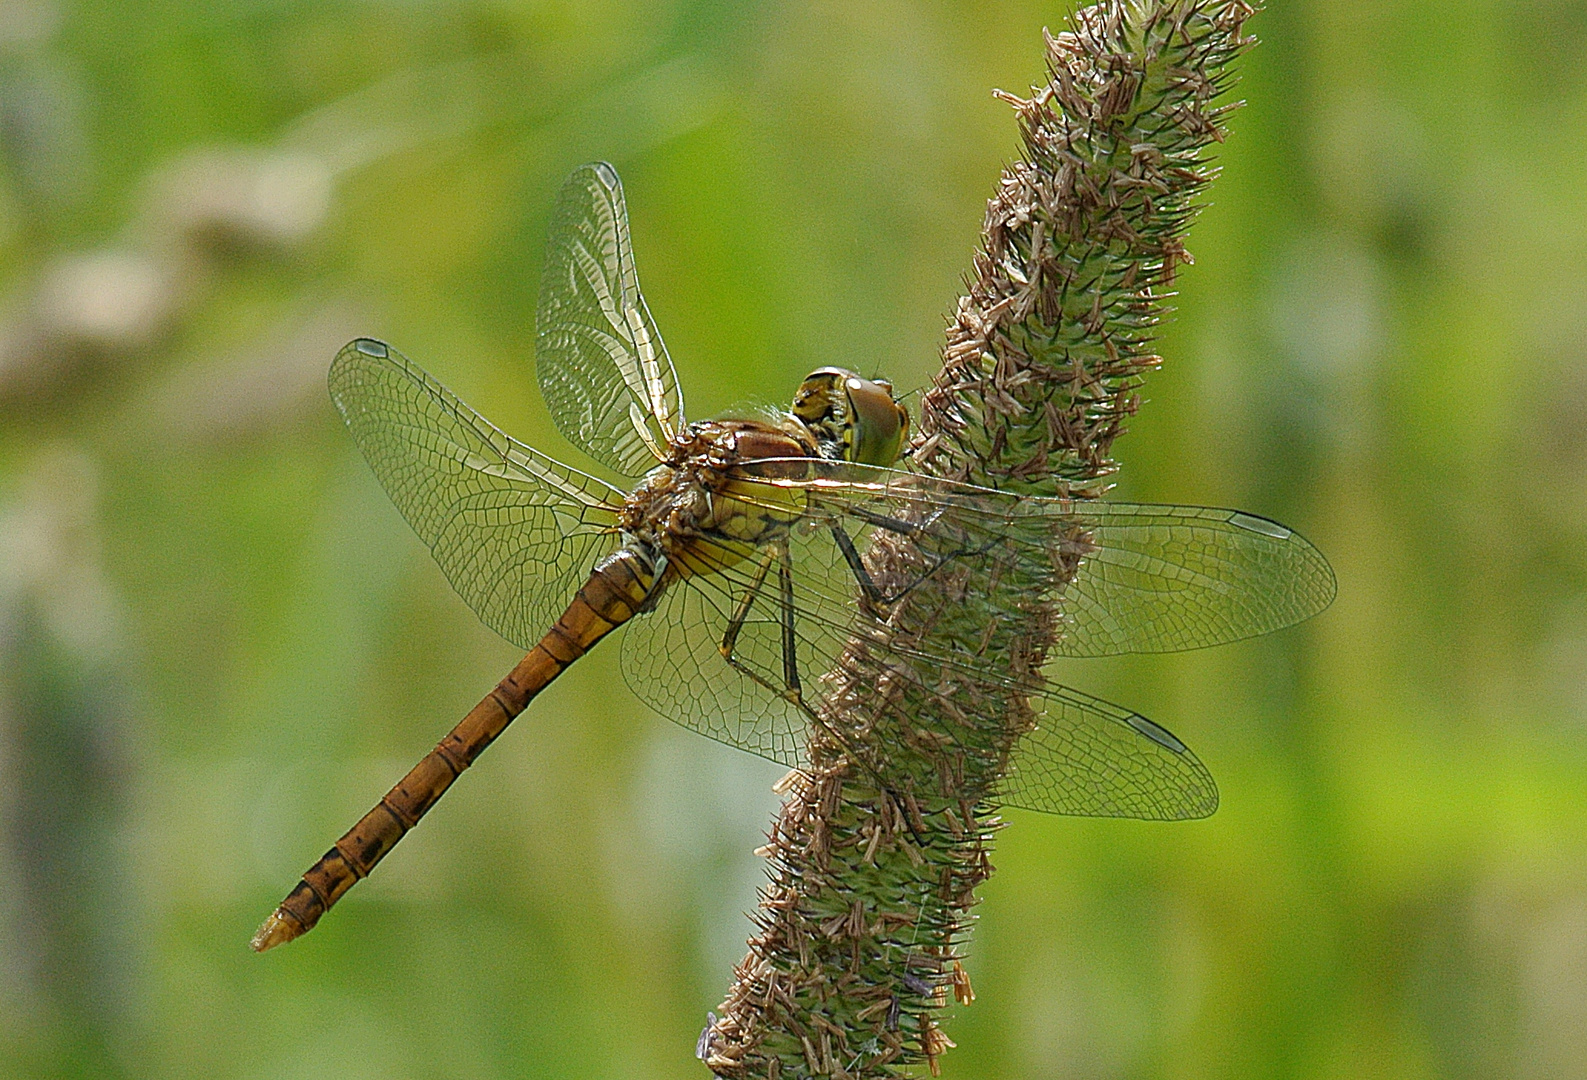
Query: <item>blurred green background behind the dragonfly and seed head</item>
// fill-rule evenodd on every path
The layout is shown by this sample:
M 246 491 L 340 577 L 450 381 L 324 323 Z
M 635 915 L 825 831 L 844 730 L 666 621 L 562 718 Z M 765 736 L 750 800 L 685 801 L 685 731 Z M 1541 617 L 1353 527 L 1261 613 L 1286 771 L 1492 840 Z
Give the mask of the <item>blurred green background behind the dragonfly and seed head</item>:
M 600 649 L 309 937 L 260 918 L 516 660 L 324 390 L 567 452 L 560 178 L 695 416 L 936 365 L 1062 3 L 0 0 L 0 1075 L 703 1077 L 776 766 Z M 1011 814 L 947 1077 L 1587 1077 L 1587 3 L 1274 0 L 1120 492 L 1339 599 L 1073 663 L 1190 825 Z

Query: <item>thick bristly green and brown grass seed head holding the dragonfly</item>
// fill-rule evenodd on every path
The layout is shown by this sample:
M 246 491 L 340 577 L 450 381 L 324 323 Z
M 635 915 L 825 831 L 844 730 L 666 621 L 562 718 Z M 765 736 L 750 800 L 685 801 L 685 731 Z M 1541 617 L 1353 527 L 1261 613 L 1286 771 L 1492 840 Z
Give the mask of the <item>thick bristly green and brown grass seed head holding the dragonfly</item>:
M 1101 492 L 1159 363 L 1154 328 L 1189 262 L 1182 236 L 1214 174 L 1205 152 L 1233 108 L 1214 101 L 1251 44 L 1251 14 L 1243 0 L 1108 0 L 1046 38 L 1046 86 L 1001 95 L 1024 157 L 987 205 L 913 468 L 1019 493 Z M 924 542 L 879 534 L 865 555 L 873 580 L 919 580 Z M 916 642 L 1039 672 L 1060 633 L 1052 574 L 1016 566 L 992 588 L 932 574 L 889 620 L 905 645 L 893 655 Z M 763 848 L 757 934 L 701 1040 L 706 1064 L 770 1080 L 935 1074 L 952 1045 L 940 1010 L 971 999 L 959 948 L 992 872 L 997 787 L 1032 712 L 1006 687 L 884 664 L 863 641 L 819 709 L 809 769 L 786 782 Z

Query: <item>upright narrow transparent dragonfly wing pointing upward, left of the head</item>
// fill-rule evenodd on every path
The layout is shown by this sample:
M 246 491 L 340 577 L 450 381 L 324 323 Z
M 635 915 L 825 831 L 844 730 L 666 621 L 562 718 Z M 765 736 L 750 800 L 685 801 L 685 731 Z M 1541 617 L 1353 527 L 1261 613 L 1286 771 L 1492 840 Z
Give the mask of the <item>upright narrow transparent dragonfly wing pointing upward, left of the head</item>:
M 684 425 L 684 396 L 640 295 L 622 182 L 605 162 L 557 197 L 535 327 L 540 392 L 573 446 L 644 476 Z

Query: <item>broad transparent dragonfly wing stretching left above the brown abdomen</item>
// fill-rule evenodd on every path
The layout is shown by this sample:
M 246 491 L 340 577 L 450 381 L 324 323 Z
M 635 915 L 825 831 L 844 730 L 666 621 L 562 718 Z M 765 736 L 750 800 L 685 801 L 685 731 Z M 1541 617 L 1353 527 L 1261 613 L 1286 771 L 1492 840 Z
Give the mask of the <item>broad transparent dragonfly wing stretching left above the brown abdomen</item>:
M 452 588 L 508 641 L 540 641 L 616 547 L 622 492 L 503 435 L 395 349 L 349 343 L 330 398 Z

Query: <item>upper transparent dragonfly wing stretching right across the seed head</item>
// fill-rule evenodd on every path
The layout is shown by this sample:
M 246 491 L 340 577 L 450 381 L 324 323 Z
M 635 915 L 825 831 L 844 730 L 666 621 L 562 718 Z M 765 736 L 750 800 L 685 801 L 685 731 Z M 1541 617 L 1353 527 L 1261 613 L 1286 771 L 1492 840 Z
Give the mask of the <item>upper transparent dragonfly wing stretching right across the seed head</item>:
M 1239 511 L 1024 498 L 819 458 L 751 468 L 765 495 L 744 498 L 757 504 L 786 504 L 797 488 L 813 512 L 892 522 L 989 577 L 1017 561 L 1047 565 L 1063 598 L 1057 655 L 1222 645 L 1309 619 L 1336 592 L 1328 560 L 1305 538 Z

